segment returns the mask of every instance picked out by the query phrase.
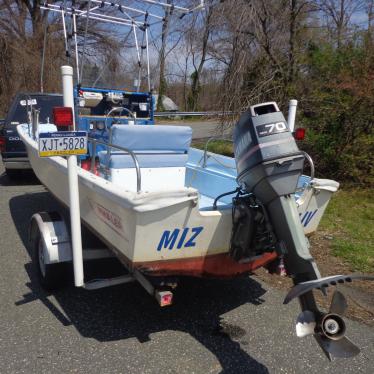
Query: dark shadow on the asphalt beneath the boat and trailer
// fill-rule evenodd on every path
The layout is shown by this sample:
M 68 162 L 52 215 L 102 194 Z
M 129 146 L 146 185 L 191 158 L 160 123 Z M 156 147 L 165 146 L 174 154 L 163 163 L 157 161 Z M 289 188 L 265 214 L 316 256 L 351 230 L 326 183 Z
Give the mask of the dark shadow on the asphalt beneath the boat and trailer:
M 48 192 L 17 196 L 9 205 L 26 248 L 28 221 L 32 214 L 56 210 L 59 206 Z M 110 262 L 100 264 L 110 267 Z M 147 342 L 150 335 L 157 332 L 181 331 L 194 337 L 217 357 L 222 373 L 268 373 L 263 364 L 241 348 L 240 343 L 249 344 L 245 337 L 247 332 L 226 323 L 221 317 L 243 304 L 262 303 L 261 296 L 266 290 L 253 279 L 182 278 L 174 294 L 174 305 L 167 308 L 160 308 L 137 283 L 96 291 L 70 286 L 53 293 L 59 304 L 57 307 L 48 299 L 50 294 L 39 286 L 33 264 L 30 262 L 25 268 L 30 278 L 27 284 L 30 293 L 16 304 L 40 300 L 63 326 L 74 325 L 83 337 L 102 342 L 135 337 L 140 342 Z

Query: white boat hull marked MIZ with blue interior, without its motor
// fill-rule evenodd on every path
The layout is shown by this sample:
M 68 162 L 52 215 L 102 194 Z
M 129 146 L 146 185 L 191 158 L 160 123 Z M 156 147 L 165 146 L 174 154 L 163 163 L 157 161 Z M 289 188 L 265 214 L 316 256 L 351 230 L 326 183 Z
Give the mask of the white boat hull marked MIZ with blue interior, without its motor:
M 28 127 L 19 133 L 38 179 L 69 206 L 67 160 L 40 158 L 38 139 L 28 136 Z M 235 159 L 190 148 L 191 137 L 190 127 L 112 126 L 114 145 L 135 152 L 140 190 L 129 154 L 99 151 L 99 175 L 78 168 L 82 221 L 124 263 L 152 275 L 234 276 L 276 259 L 274 250 L 245 263 L 230 257 Z M 300 222 L 311 234 L 338 184 L 306 176 L 299 184 L 304 185 L 296 200 Z M 231 191 L 235 194 L 219 199 L 215 208 L 215 199 Z

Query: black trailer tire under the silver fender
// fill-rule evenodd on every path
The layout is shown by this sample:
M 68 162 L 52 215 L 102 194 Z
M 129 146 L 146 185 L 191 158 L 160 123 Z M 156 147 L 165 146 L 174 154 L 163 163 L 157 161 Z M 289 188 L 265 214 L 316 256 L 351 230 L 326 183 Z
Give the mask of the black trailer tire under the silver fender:
M 67 279 L 67 264 L 46 264 L 44 261 L 44 242 L 40 232 L 34 241 L 34 265 L 41 286 L 53 291 L 65 285 Z

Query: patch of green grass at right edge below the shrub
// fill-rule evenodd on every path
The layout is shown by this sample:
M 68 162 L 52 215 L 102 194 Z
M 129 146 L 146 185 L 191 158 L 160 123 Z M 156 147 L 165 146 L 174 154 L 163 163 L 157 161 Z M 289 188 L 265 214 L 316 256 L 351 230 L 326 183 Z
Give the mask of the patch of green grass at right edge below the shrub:
M 330 201 L 320 229 L 328 231 L 335 256 L 355 271 L 374 273 L 374 191 L 338 191 Z

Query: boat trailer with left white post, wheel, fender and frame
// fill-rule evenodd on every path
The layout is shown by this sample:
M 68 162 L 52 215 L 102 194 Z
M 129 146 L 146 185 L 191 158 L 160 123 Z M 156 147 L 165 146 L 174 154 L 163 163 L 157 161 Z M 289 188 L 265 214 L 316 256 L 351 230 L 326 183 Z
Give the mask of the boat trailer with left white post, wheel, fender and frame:
M 70 66 L 62 66 L 62 86 L 64 106 L 74 108 L 73 96 L 73 69 Z M 75 123 L 75 121 L 74 121 Z M 37 123 L 33 123 L 34 131 Z M 35 261 L 41 284 L 46 289 L 55 289 L 66 276 L 66 266 L 73 263 L 74 284 L 76 287 L 83 287 L 87 290 L 129 283 L 137 281 L 152 296 L 160 306 L 172 304 L 173 293 L 171 286 L 163 285 L 162 289 L 156 288 L 137 269 L 127 267 L 128 274 L 115 278 L 95 279 L 89 282 L 84 281 L 84 260 L 103 259 L 115 257 L 115 248 L 83 249 L 80 202 L 78 191 L 77 156 L 67 157 L 69 200 L 70 200 L 70 225 L 57 212 L 40 212 L 32 216 L 29 227 L 29 242 L 35 253 Z M 70 227 L 70 230 L 69 230 Z M 126 264 L 122 263 L 125 267 Z

